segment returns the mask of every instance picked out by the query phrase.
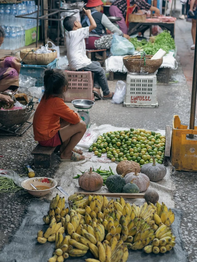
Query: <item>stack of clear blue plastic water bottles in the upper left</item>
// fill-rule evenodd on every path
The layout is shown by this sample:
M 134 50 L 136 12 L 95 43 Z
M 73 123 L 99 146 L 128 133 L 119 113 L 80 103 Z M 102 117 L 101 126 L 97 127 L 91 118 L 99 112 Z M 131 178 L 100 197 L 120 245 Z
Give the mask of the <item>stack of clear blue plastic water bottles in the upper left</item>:
M 36 26 L 36 19 L 17 18 L 16 15 L 30 14 L 38 10 L 35 1 L 20 4 L 0 4 L 0 25 L 5 31 L 2 49 L 16 49 L 25 46 L 25 30 Z M 37 13 L 29 15 L 37 17 Z M 41 22 L 41 21 L 40 21 Z

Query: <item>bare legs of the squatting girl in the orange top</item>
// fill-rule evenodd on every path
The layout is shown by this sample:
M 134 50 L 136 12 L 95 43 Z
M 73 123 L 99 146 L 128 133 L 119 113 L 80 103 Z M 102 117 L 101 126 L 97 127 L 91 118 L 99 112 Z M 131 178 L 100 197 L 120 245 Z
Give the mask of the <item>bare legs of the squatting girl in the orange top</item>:
M 83 120 L 79 123 L 73 125 L 69 124 L 65 127 L 62 127 L 59 130 L 59 134 L 62 138 L 62 142 L 66 144 L 66 147 L 60 158 L 70 159 L 72 156 L 72 149 L 78 144 L 78 142 L 82 139 L 84 133 L 86 132 L 86 124 Z M 69 140 L 70 139 L 70 140 Z M 67 143 L 67 141 L 69 142 Z M 83 155 L 79 155 L 79 159 L 84 159 Z

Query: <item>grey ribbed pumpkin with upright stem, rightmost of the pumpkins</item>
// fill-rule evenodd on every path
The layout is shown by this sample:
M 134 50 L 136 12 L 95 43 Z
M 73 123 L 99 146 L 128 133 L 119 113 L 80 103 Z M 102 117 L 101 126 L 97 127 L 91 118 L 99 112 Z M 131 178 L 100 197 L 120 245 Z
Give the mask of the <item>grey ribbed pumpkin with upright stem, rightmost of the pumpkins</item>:
M 143 165 L 141 168 L 141 172 L 146 174 L 151 181 L 159 181 L 165 177 L 167 169 L 164 165 L 155 163 L 154 157 L 152 157 L 152 159 L 153 163 Z

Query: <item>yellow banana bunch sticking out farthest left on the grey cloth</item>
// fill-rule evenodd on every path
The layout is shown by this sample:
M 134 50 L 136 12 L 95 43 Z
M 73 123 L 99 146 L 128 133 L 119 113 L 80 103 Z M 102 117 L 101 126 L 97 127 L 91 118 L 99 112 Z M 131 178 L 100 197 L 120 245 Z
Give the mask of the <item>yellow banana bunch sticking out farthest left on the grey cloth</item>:
M 54 242 L 55 235 L 58 233 L 64 233 L 64 226 L 62 226 L 62 222 L 57 223 L 55 218 L 53 217 L 50 221 L 49 227 L 46 229 L 45 232 L 43 232 L 43 230 L 38 231 L 37 241 L 40 244 L 46 243 L 47 240 L 49 242 Z

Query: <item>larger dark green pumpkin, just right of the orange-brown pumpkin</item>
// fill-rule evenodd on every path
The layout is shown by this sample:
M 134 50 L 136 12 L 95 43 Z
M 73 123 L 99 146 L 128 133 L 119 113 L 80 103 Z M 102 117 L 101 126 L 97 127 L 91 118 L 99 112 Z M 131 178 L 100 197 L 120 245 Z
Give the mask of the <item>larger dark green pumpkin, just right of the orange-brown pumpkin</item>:
M 106 180 L 107 189 L 112 193 L 122 193 L 123 186 L 125 185 L 125 179 L 120 175 L 109 176 Z

